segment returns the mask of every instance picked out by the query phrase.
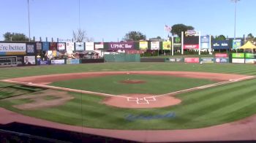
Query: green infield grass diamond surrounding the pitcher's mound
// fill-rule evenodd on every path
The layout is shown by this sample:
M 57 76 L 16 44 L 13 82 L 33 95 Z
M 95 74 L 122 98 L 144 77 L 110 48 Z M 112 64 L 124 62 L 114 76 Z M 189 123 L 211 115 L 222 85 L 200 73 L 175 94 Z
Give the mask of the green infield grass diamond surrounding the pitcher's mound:
M 121 83 L 123 80 L 142 80 L 144 83 L 127 84 Z M 98 93 L 109 93 L 113 95 L 121 95 L 128 93 L 146 93 L 146 94 L 164 94 L 177 90 L 195 88 L 202 85 L 214 83 L 211 80 L 143 75 L 143 74 L 121 74 L 105 77 L 91 77 L 85 79 L 64 80 L 53 82 L 50 85 L 72 88 L 78 90 L 89 90 Z

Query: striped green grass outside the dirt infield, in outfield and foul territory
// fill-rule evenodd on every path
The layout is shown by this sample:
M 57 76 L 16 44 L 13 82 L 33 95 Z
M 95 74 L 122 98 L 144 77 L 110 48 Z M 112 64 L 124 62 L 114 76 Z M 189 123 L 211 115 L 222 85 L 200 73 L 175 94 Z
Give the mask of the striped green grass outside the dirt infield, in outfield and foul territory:
M 110 66 L 111 65 L 111 66 Z M 47 69 L 51 67 L 48 71 Z M 79 69 L 80 67 L 80 69 Z M 90 69 L 91 67 L 91 69 Z M 71 68 L 71 69 L 70 69 Z M 74 69 L 72 69 L 74 68 Z M 58 70 L 59 69 L 59 70 Z M 69 69 L 69 71 L 64 71 Z M 256 75 L 255 65 L 244 64 L 185 64 L 185 63 L 104 63 L 85 64 L 75 66 L 45 66 L 38 70 L 29 67 L 23 68 L 26 74 L 53 74 L 57 72 L 75 71 L 125 71 L 125 70 L 159 70 L 159 71 L 209 71 L 233 74 Z M 86 70 L 87 69 L 87 70 Z M 4 69 L 10 70 L 10 69 Z M 13 70 L 14 72 L 15 70 Z M 38 71 L 38 73 L 37 73 Z M 45 72 L 43 72 L 45 71 Z M 0 71 L 2 72 L 2 71 Z M 3 72 L 6 74 L 6 72 Z M 15 77 L 18 73 L 1 78 Z M 91 128 L 118 128 L 118 129 L 180 129 L 203 128 L 219 125 L 256 113 L 256 80 L 245 80 L 214 88 L 196 90 L 190 93 L 176 95 L 181 98 L 181 104 L 159 109 L 120 109 L 102 104 L 103 97 L 86 94 L 71 93 L 75 99 L 59 107 L 22 111 L 13 108 L 12 101 L 0 101 L 0 106 L 20 112 L 24 115 L 39 117 L 69 125 L 83 125 Z M 128 115 L 164 115 L 174 112 L 176 117 L 156 120 L 126 120 Z M 83 122 L 82 122 L 83 121 Z

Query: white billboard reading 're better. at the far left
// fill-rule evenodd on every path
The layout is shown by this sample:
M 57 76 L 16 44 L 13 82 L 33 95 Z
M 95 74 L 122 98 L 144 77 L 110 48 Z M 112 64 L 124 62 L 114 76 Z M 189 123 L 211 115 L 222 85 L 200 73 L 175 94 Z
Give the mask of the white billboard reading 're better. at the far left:
M 0 55 L 25 55 L 25 43 L 4 43 L 0 42 Z

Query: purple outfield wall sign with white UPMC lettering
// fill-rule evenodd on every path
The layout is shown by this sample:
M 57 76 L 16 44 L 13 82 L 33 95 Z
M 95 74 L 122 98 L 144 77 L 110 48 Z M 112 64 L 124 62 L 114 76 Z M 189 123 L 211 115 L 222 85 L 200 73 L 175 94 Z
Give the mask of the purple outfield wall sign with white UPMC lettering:
M 108 48 L 110 50 L 133 50 L 133 42 L 109 42 Z

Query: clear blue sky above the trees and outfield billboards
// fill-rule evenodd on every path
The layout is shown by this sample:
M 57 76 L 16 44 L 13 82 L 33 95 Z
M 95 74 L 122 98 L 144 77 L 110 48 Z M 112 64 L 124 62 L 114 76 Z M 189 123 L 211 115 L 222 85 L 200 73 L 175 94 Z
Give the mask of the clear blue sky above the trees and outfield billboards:
M 31 36 L 72 39 L 79 27 L 78 0 L 29 0 Z M 236 36 L 256 36 L 256 0 L 237 4 Z M 27 0 L 0 0 L 0 40 L 7 31 L 29 36 Z M 80 0 L 80 26 L 95 42 L 121 40 L 128 31 L 166 36 L 164 26 L 184 23 L 201 34 L 234 36 L 230 0 Z

